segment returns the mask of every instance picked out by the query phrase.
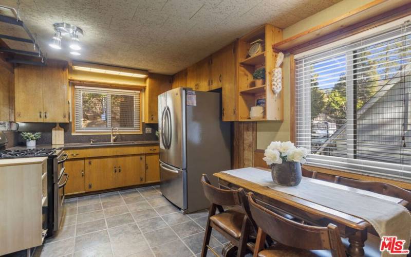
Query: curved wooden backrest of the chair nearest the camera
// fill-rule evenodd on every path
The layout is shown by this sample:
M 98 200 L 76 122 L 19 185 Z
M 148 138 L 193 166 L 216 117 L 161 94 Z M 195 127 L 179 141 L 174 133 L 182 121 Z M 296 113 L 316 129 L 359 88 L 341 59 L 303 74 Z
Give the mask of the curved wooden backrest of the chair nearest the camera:
M 295 248 L 331 250 L 332 256 L 345 256 L 337 226 L 314 227 L 291 221 L 257 204 L 252 193 L 248 194 L 248 201 L 257 226 L 273 240 Z

